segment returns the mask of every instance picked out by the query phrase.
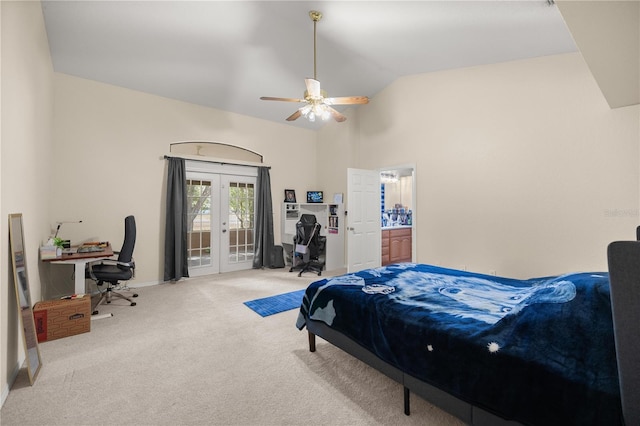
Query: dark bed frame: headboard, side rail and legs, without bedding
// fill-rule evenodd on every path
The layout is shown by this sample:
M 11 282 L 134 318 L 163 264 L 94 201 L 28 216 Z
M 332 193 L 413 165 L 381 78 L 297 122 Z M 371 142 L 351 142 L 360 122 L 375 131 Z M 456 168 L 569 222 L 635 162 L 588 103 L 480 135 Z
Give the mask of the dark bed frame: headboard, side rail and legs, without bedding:
M 613 242 L 607 253 L 622 411 L 625 424 L 635 426 L 640 424 L 640 241 Z M 315 352 L 319 336 L 400 383 L 406 415 L 410 414 L 413 392 L 470 425 L 520 425 L 404 373 L 324 322 L 307 318 L 306 327 L 311 352 Z

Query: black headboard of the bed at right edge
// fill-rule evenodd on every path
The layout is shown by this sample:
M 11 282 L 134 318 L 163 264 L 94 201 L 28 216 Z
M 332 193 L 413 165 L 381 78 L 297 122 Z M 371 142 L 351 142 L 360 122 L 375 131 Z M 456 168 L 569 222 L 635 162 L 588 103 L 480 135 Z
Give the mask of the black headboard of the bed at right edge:
M 640 424 L 640 241 L 615 241 L 609 244 L 607 257 L 622 411 L 626 425 L 638 425 Z

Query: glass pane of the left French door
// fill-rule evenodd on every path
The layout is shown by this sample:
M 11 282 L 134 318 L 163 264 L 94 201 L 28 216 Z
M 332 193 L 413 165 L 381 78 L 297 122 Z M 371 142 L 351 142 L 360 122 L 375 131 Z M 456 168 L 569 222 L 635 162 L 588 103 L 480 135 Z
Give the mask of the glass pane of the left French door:
M 188 260 L 190 268 L 211 265 L 211 182 L 187 180 Z

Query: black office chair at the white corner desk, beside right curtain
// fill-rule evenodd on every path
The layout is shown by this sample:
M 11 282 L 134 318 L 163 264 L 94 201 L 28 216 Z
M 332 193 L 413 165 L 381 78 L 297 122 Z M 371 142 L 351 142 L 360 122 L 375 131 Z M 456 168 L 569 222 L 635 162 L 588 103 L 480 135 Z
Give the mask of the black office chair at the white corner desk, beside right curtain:
M 293 237 L 292 266 L 289 272 L 299 270 L 299 277 L 308 271 L 316 272 L 318 276 L 322 274 L 327 237 L 320 235 L 320 229 L 321 225 L 315 215 L 300 216 L 296 223 L 296 235 Z

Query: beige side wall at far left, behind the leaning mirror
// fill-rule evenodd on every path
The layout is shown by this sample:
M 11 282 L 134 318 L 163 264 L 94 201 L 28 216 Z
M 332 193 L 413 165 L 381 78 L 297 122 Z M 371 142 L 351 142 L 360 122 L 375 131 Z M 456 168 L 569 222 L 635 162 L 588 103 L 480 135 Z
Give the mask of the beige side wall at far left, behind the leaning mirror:
M 2 402 L 24 360 L 8 215 L 23 214 L 27 275 L 40 300 L 38 247 L 48 232 L 52 153 L 53 71 L 40 3 L 0 2 L 2 13 L 2 133 L 0 139 L 0 383 Z

